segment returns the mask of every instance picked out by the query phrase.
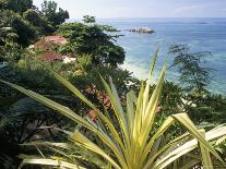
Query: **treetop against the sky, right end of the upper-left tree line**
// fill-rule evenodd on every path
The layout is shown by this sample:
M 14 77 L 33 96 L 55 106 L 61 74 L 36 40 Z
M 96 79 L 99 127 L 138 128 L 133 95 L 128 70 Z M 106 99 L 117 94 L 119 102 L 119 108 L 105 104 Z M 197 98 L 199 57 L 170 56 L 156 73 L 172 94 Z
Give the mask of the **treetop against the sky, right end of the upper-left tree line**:
M 68 11 L 62 10 L 59 8 L 57 11 L 57 2 L 55 1 L 47 1 L 45 0 L 41 3 L 41 14 L 51 23 L 52 26 L 57 26 L 66 22 L 69 19 Z

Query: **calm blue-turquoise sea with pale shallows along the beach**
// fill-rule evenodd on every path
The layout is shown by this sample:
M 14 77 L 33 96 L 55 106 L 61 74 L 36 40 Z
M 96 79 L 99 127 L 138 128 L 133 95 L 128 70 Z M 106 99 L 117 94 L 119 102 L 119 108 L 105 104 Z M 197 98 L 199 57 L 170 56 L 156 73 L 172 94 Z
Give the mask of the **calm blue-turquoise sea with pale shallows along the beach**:
M 112 25 L 124 35 L 118 40 L 127 52 L 122 68 L 132 71 L 134 76 L 146 79 L 157 46 L 160 46 L 160 52 L 156 72 L 160 70 L 171 44 L 187 44 L 191 51 L 212 52 L 205 58 L 206 64 L 214 69 L 209 88 L 214 93 L 226 94 L 226 19 L 114 19 L 98 22 Z M 156 33 L 148 35 L 126 31 L 132 27 L 151 27 Z M 177 82 L 177 77 L 176 70 L 167 71 L 168 80 Z

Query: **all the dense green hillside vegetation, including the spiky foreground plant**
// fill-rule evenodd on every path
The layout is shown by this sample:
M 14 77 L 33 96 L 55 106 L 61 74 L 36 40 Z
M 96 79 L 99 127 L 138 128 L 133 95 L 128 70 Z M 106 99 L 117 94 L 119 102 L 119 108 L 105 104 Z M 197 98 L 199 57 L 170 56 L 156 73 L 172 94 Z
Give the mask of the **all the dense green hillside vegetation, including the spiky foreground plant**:
M 185 45 L 173 45 L 169 69 L 178 69 L 180 84 L 168 82 L 164 70 L 159 82 L 151 85 L 154 63 L 145 82 L 121 70 L 118 65 L 126 53 L 116 43 L 121 35 L 97 24 L 94 16 L 64 23 L 69 13 L 55 1 L 45 0 L 37 9 L 32 0 L 0 0 L 0 168 L 17 168 L 22 159 L 24 165 L 33 164 L 28 155 L 36 155 L 34 164 L 48 162 L 41 155 L 58 167 L 71 164 L 72 168 L 224 166 L 226 130 L 216 126 L 226 122 L 226 99 L 207 90 L 211 70 L 203 58 L 209 52 L 193 53 Z M 64 37 L 67 43 L 50 44 L 48 51 L 31 49 L 49 35 Z M 43 61 L 45 52 L 75 60 Z M 109 76 L 110 86 L 105 82 Z M 203 137 L 205 132 L 199 132 L 185 113 L 175 114 L 178 112 L 186 112 L 198 128 L 209 131 L 211 145 Z M 185 131 L 189 134 L 182 135 Z M 181 146 L 175 147 L 177 144 Z M 192 148 L 178 154 L 187 144 Z M 160 148 L 164 146 L 166 149 Z M 177 158 L 168 156 L 171 148 Z

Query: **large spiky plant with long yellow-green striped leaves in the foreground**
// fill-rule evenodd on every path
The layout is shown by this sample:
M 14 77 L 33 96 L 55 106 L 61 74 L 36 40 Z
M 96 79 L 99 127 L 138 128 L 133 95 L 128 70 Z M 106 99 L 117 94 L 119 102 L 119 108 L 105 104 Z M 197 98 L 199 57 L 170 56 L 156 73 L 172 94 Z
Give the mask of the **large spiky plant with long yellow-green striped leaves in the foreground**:
M 99 165 L 99 168 L 162 169 L 173 168 L 174 166 L 174 168 L 187 169 L 202 165 L 203 168 L 210 169 L 214 168 L 212 162 L 212 158 L 214 158 L 217 165 L 225 167 L 224 159 L 221 158 L 209 141 L 225 136 L 226 126 L 222 125 L 205 133 L 203 130 L 198 130 L 186 113 L 180 112 L 169 116 L 157 130 L 154 129 L 156 110 L 162 96 L 160 93 L 166 72 L 165 63 L 155 88 L 151 89 L 156 58 L 157 52 L 151 64 L 148 80 L 145 82 L 145 85 L 141 86 L 138 97 L 133 92 L 127 94 L 126 106 L 121 105 L 112 81 L 110 80 L 108 85 L 100 76 L 116 118 L 111 118 L 112 114 L 109 116 L 108 112 L 98 109 L 76 87 L 51 70 L 60 83 L 98 114 L 96 122 L 78 116 L 68 107 L 37 93 L 1 81 L 66 116 L 76 124 L 74 131 L 63 131 L 63 134 L 67 134 L 69 137 L 67 143 L 27 143 L 26 145 L 35 147 L 46 146 L 53 150 L 55 155 L 48 156 L 40 153 L 40 157 L 23 156 L 23 165 L 35 164 L 73 169 L 87 167 L 83 162 L 79 162 L 82 159 L 90 164 Z M 175 122 L 185 128 L 187 133 L 162 144 L 163 136 Z M 91 131 L 96 136 L 96 140 L 92 141 L 82 133 L 80 131 L 82 128 Z M 183 159 L 182 162 L 181 159 Z M 175 165 L 178 161 L 180 161 L 179 167 Z

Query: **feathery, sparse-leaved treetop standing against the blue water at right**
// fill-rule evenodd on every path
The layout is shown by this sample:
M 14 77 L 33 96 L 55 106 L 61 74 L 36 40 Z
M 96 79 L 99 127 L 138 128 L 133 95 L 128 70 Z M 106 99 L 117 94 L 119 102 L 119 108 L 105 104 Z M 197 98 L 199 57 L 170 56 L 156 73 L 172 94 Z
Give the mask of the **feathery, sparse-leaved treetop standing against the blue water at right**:
M 204 67 L 203 58 L 210 52 L 190 52 L 186 45 L 173 45 L 170 53 L 175 57 L 171 67 L 177 67 L 180 73 L 180 82 L 189 92 L 203 92 L 207 86 L 210 69 Z

